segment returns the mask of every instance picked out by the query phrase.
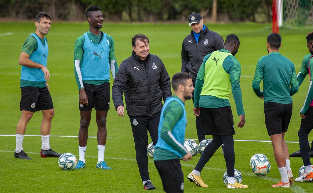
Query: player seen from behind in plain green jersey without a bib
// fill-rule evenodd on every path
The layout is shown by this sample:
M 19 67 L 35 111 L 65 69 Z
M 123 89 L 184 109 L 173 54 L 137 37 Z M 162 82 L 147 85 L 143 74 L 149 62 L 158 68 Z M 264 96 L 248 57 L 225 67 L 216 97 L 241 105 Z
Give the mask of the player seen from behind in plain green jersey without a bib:
M 274 156 L 281 175 L 281 181 L 272 187 L 290 187 L 293 175 L 290 168 L 285 133 L 292 114 L 292 98 L 299 89 L 295 65 L 279 53 L 281 37 L 271 33 L 267 37 L 269 55 L 262 56 L 257 63 L 252 88 L 264 100 L 265 125 L 272 141 Z M 263 89 L 260 82 L 263 79 Z M 290 88 L 291 85 L 291 88 Z

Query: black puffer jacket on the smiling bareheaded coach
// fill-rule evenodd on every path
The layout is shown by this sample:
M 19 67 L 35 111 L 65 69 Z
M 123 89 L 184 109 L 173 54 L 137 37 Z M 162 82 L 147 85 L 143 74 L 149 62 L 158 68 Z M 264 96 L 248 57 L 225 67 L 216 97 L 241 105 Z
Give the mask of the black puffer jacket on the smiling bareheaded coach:
M 115 109 L 123 105 L 123 92 L 129 116 L 148 117 L 161 112 L 172 96 L 171 80 L 162 60 L 153 54 L 141 60 L 133 51 L 120 65 L 112 86 Z M 146 65 L 145 65 L 146 63 Z

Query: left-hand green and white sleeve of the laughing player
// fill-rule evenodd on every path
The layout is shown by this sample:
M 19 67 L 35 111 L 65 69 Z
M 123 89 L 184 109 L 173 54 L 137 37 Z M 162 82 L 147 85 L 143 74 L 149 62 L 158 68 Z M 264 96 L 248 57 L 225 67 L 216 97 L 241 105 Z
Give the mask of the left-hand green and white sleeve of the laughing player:
M 74 45 L 74 74 L 78 89 L 84 88 L 83 78 L 80 71 L 80 65 L 83 61 L 85 36 L 82 35 L 76 39 Z

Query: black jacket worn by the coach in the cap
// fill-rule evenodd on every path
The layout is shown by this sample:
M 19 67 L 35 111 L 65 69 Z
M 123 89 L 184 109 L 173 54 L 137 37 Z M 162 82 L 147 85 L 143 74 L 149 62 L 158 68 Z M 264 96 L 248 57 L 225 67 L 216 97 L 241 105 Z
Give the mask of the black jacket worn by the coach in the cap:
M 205 26 L 204 31 L 201 30 L 197 43 L 191 30 L 182 42 L 181 71 L 190 73 L 195 81 L 203 58 L 211 52 L 222 49 L 223 43 L 223 37 L 209 30 L 207 26 Z

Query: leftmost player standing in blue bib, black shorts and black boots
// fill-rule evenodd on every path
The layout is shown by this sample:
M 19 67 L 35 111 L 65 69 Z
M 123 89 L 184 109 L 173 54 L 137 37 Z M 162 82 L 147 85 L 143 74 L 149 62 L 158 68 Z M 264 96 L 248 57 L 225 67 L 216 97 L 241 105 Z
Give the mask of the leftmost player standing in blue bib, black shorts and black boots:
M 43 114 L 40 126 L 42 141 L 40 155 L 42 157 L 59 157 L 61 155 L 51 150 L 49 144 L 54 108 L 47 83 L 50 79 L 50 72 L 47 69 L 48 41 L 47 38 L 44 38 L 44 35 L 48 34 L 51 26 L 50 14 L 38 13 L 35 26 L 36 32 L 30 34 L 25 40 L 19 58 L 19 64 L 22 65 L 20 82 L 22 116 L 16 127 L 14 152 L 16 158 L 29 160 L 31 158 L 23 151 L 23 139 L 28 121 L 32 118 L 33 113 L 39 110 Z

